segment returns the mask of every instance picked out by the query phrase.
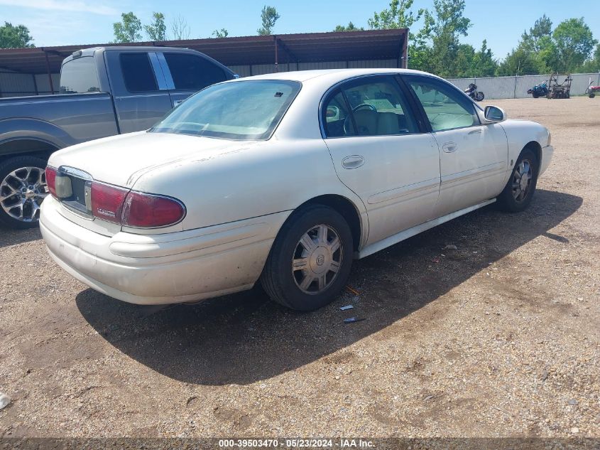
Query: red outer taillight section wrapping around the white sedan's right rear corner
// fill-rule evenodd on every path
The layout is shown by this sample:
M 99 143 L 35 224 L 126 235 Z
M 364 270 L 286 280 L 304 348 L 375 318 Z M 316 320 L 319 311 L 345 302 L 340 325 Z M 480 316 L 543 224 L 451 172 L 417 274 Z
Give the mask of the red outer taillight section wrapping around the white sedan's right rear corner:
M 178 200 L 131 191 L 123 206 L 121 223 L 129 227 L 165 227 L 184 216 L 185 208 Z

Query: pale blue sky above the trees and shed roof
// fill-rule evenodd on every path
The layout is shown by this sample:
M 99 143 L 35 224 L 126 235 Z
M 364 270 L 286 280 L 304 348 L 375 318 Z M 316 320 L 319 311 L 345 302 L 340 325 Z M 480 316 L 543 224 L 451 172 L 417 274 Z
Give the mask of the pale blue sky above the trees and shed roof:
M 86 45 L 114 39 L 112 23 L 122 12 L 133 11 L 142 23 L 150 23 L 153 11 L 165 14 L 168 23 L 181 16 L 190 26 L 190 38 L 207 38 L 217 28 L 229 36 L 251 36 L 261 26 L 261 9 L 275 6 L 280 19 L 274 33 L 332 31 L 352 21 L 367 27 L 374 11 L 388 7 L 390 0 L 0 0 L 0 21 L 23 23 L 36 46 Z M 465 16 L 473 26 L 461 39 L 479 48 L 484 38 L 496 58 L 504 58 L 537 18 L 546 14 L 554 26 L 565 18 L 584 17 L 600 40 L 597 1 L 466 0 Z M 414 9 L 432 9 L 432 0 L 415 0 Z M 420 25 L 413 27 L 414 31 Z M 146 40 L 144 36 L 144 40 Z

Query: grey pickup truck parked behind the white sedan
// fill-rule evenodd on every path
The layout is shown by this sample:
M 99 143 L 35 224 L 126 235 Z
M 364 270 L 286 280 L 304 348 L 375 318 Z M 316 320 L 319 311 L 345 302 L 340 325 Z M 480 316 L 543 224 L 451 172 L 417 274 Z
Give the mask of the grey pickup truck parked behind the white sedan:
M 185 48 L 87 48 L 62 62 L 60 95 L 0 99 L 0 226 L 37 225 L 53 151 L 148 129 L 194 92 L 234 77 Z

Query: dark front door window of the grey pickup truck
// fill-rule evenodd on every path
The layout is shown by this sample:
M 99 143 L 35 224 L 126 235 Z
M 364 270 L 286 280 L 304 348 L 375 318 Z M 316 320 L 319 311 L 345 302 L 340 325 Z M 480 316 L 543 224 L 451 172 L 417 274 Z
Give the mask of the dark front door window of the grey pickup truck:
M 227 80 L 225 71 L 210 60 L 185 53 L 165 53 L 175 89 L 201 90 Z

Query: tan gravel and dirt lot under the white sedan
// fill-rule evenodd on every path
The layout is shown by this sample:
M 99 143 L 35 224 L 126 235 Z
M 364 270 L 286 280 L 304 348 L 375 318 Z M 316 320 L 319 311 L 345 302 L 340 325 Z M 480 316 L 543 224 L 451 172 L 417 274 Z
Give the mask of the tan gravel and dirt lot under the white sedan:
M 600 100 L 493 103 L 552 131 L 531 208 L 363 259 L 311 314 L 132 306 L 0 230 L 0 436 L 600 437 Z

